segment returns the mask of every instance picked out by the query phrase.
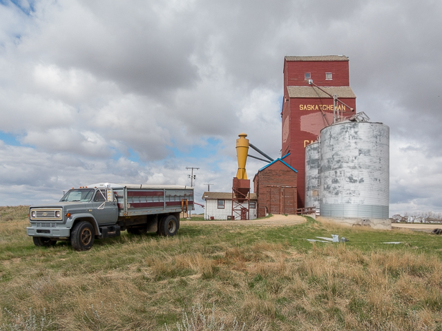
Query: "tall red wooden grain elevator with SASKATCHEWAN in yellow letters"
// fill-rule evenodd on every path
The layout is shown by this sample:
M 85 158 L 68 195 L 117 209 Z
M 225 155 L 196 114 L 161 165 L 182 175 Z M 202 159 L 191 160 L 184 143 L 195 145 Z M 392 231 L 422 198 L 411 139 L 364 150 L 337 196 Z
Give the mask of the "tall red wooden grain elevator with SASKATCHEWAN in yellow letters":
M 334 103 L 337 97 L 342 103 Z M 305 146 L 333 123 L 334 105 L 344 117 L 354 114 L 356 95 L 349 86 L 349 59 L 344 55 L 285 57 L 282 103 L 282 155 L 298 170 L 298 208 L 305 201 Z

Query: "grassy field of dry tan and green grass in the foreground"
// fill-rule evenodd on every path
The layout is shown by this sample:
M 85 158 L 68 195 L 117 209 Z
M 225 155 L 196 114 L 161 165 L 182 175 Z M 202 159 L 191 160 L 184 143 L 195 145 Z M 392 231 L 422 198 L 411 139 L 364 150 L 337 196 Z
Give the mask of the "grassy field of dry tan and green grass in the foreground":
M 442 330 L 441 236 L 308 219 L 76 252 L 35 247 L 26 207 L 0 214 L 0 330 Z M 349 241 L 306 240 L 331 234 Z

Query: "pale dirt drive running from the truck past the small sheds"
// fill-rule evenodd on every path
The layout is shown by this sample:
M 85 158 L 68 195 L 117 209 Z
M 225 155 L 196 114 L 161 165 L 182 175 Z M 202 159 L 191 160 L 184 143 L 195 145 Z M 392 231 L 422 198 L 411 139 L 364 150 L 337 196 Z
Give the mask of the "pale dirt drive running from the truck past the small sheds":
M 263 226 L 282 226 L 305 223 L 305 218 L 300 215 L 273 215 L 268 219 L 251 219 L 248 221 L 187 221 L 180 220 L 183 225 L 263 225 Z

